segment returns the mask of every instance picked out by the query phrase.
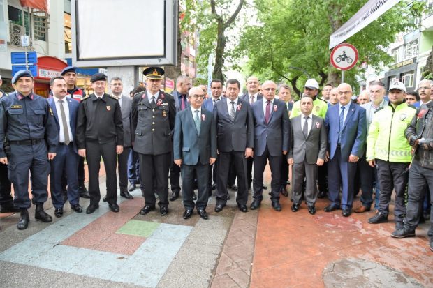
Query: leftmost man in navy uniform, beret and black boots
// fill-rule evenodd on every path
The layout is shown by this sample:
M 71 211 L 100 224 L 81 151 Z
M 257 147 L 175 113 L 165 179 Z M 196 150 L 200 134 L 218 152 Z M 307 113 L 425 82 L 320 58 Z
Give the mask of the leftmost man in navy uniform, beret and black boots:
M 0 100 L 0 162 L 8 164 L 8 178 L 15 190 L 14 204 L 21 209 L 17 228 L 22 230 L 29 225 L 29 171 L 32 202 L 36 204 L 35 218 L 52 221 L 43 211 L 43 203 L 48 197 L 49 161 L 56 156 L 59 134 L 47 100 L 33 93 L 31 72 L 18 71 L 12 84 L 15 92 Z M 10 151 L 5 149 L 5 137 Z

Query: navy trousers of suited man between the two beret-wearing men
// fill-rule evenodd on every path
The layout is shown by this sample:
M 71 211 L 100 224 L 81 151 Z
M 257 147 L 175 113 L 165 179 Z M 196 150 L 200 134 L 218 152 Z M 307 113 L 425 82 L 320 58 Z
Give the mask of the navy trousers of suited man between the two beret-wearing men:
M 66 176 L 68 185 L 68 202 L 71 205 L 79 204 L 80 192 L 78 192 L 78 156 L 73 151 L 72 142 L 69 145 L 57 146 L 56 157 L 51 160 L 50 191 L 54 208 L 63 208 L 63 185 Z

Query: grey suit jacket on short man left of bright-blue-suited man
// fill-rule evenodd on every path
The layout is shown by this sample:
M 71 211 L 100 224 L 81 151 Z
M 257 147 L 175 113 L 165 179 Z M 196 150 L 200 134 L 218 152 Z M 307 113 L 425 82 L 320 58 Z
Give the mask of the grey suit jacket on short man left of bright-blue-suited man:
M 323 118 L 312 115 L 311 130 L 305 138 L 302 132 L 302 117 L 298 115 L 291 119 L 291 148 L 287 153 L 287 158 L 293 158 L 293 162 L 302 163 L 304 160 L 308 164 L 316 164 L 317 159 L 325 160 L 328 135 Z

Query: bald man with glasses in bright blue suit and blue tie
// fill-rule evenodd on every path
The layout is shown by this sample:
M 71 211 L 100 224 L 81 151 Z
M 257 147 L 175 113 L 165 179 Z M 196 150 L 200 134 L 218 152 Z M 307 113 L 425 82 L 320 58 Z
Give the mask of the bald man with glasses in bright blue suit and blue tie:
M 342 208 L 342 215 L 351 215 L 353 182 L 356 162 L 362 157 L 365 146 L 365 109 L 351 103 L 352 88 L 347 83 L 339 84 L 339 105 L 328 109 L 325 126 L 328 128 L 330 158 L 328 163 L 328 187 L 330 204 L 325 212 Z M 340 187 L 342 199 L 339 198 Z

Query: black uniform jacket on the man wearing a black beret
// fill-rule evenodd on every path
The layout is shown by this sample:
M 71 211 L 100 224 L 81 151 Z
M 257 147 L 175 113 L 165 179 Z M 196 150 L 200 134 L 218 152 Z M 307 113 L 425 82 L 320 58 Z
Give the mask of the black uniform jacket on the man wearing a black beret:
M 99 144 L 115 140 L 116 145 L 123 146 L 122 112 L 117 98 L 106 93 L 102 98 L 95 94 L 82 98 L 75 128 L 78 149 L 85 149 L 87 140 L 98 141 Z

